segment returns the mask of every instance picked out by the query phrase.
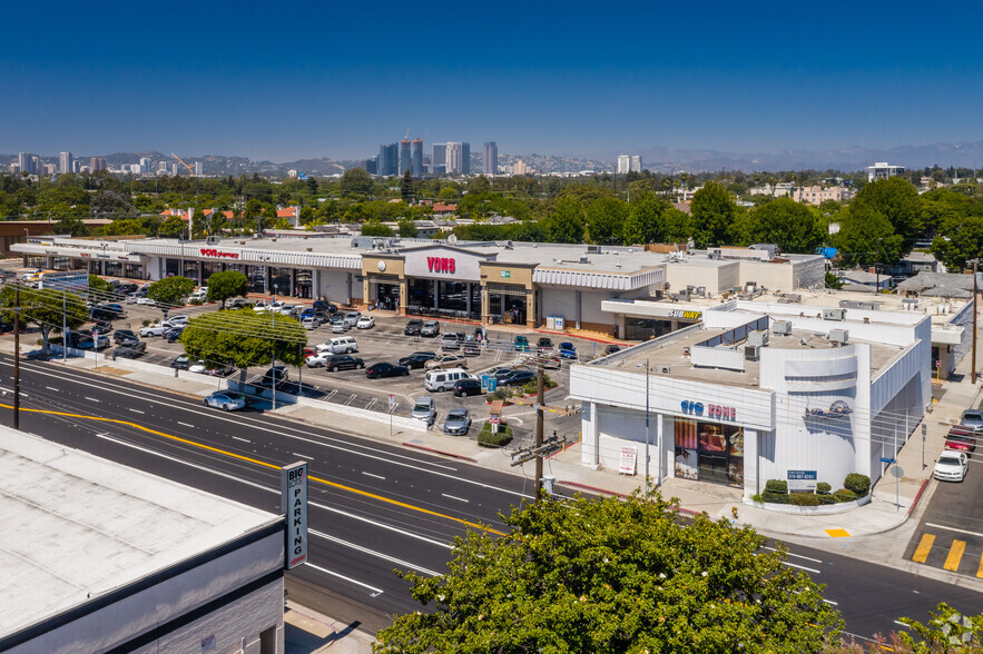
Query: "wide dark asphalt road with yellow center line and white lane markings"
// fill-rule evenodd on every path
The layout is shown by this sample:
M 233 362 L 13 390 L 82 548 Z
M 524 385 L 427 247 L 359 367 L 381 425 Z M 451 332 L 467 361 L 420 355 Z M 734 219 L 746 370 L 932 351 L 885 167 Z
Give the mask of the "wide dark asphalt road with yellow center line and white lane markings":
M 3 392 L 11 376 L 10 357 L 0 357 Z M 23 363 L 21 388 L 26 408 L 118 420 L 23 412 L 28 432 L 271 512 L 279 508 L 278 474 L 263 464 L 307 459 L 311 563 L 291 584 L 320 592 L 323 610 L 366 628 L 419 608 L 394 568 L 440 573 L 454 536 L 476 522 L 501 528 L 499 512 L 531 493 L 521 477 L 258 413 L 224 414 L 59 364 Z M 0 419 L 9 425 L 11 412 Z M 861 636 L 900 628 L 898 616 L 924 620 L 940 601 L 983 612 L 983 595 L 965 588 L 806 547 L 790 552 L 788 564 L 826 584 L 847 631 Z

